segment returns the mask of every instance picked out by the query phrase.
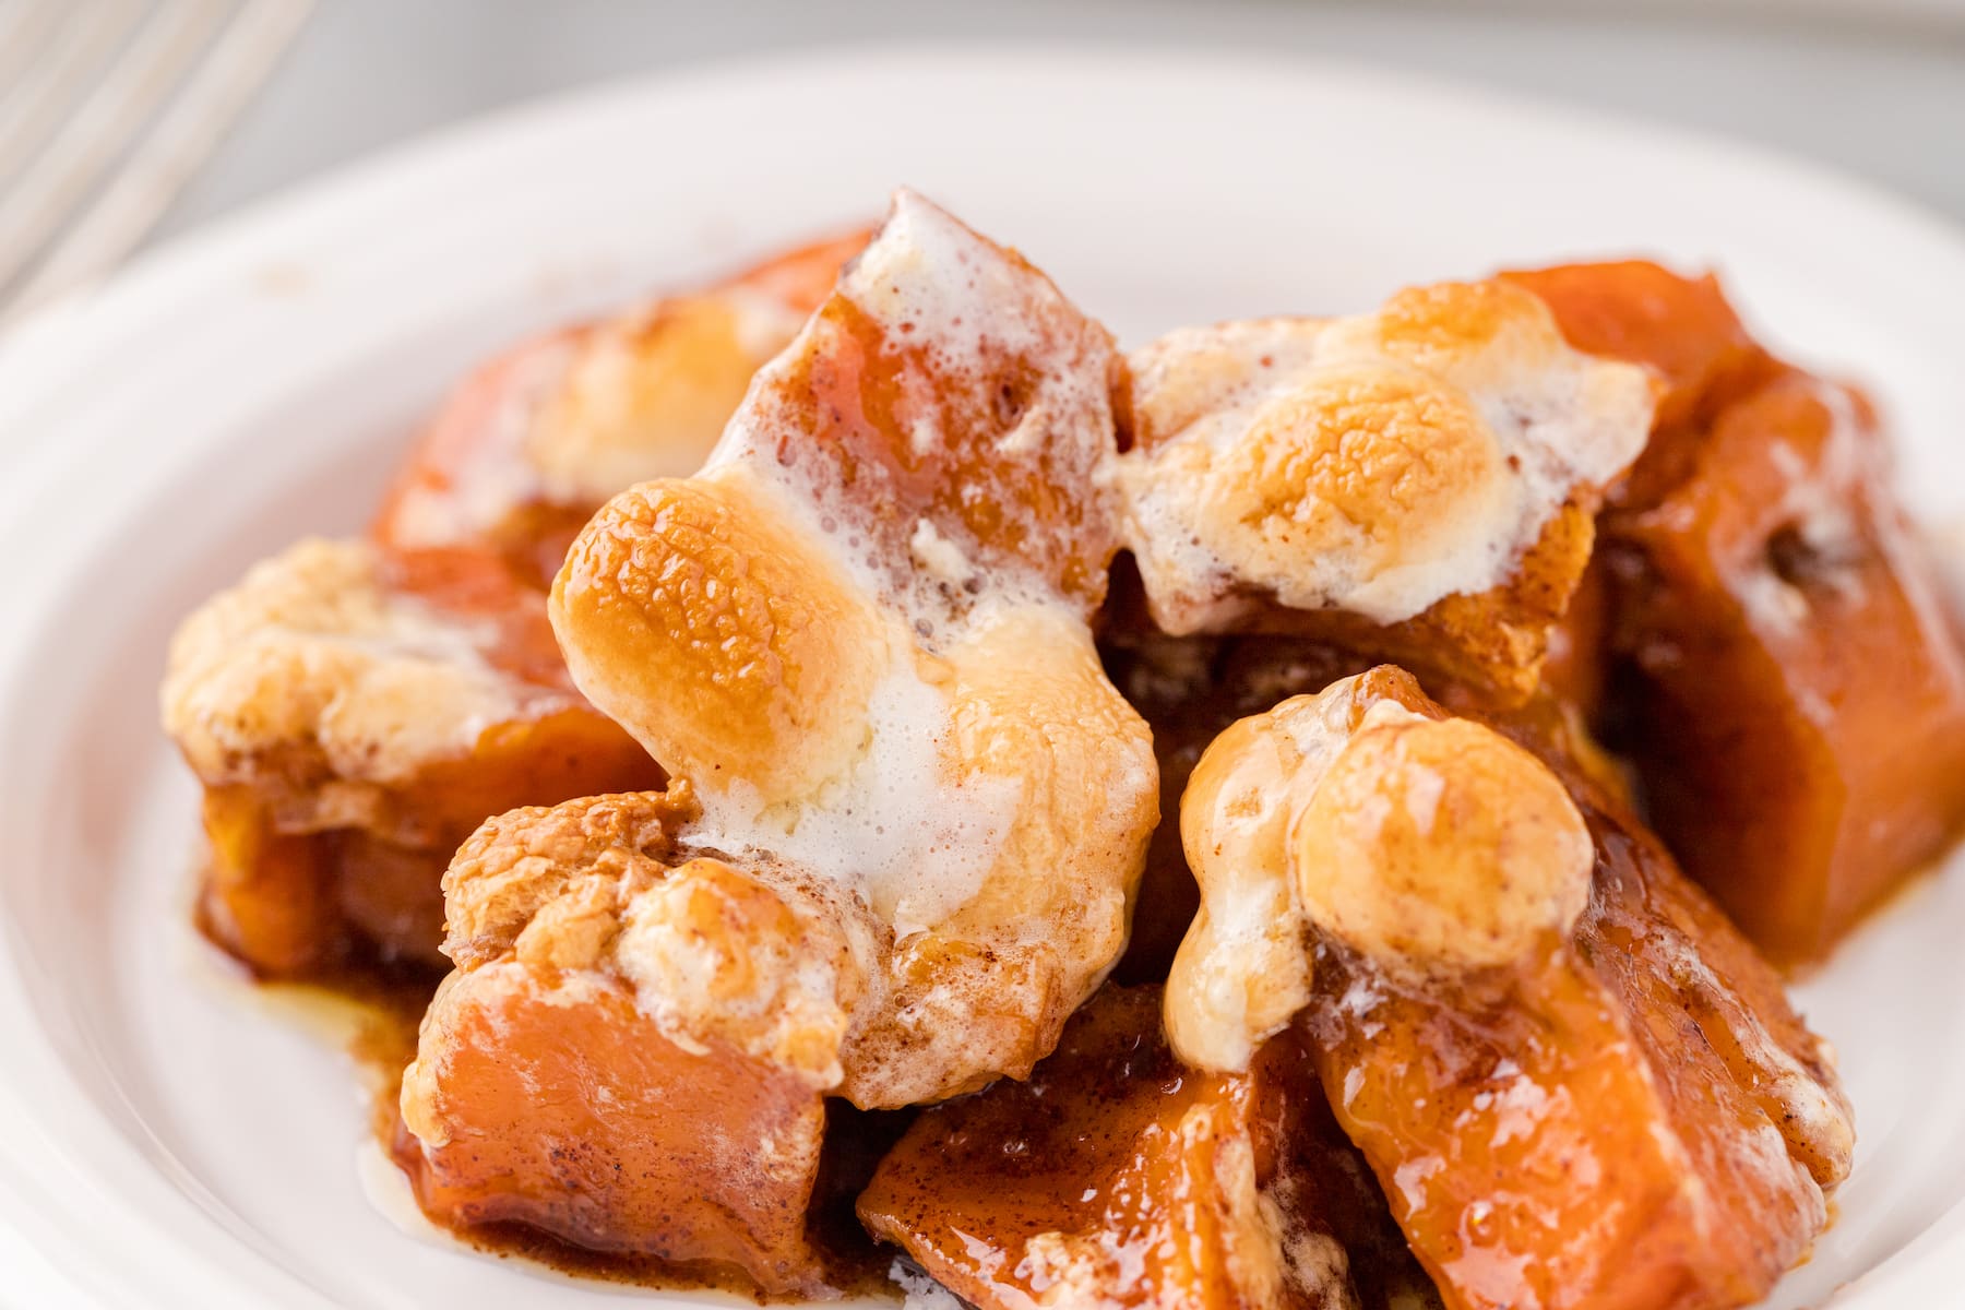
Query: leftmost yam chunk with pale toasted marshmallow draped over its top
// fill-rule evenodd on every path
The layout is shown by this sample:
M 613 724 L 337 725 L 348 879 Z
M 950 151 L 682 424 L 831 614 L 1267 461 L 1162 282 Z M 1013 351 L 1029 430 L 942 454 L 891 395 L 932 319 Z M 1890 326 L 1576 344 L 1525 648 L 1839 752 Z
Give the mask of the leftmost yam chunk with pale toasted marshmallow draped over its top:
M 485 815 L 662 782 L 477 550 L 295 546 L 183 623 L 163 711 L 206 786 L 204 927 L 271 976 L 438 966 L 442 872 Z

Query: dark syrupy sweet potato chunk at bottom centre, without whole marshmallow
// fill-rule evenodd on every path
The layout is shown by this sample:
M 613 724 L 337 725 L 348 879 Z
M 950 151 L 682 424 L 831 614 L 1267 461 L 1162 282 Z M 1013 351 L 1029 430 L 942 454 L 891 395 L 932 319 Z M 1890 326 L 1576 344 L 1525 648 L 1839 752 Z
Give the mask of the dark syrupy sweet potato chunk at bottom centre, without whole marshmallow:
M 982 1310 L 1431 1302 L 1297 1039 L 1183 1068 L 1159 988 L 1108 986 L 1030 1082 L 922 1114 L 859 1210 Z

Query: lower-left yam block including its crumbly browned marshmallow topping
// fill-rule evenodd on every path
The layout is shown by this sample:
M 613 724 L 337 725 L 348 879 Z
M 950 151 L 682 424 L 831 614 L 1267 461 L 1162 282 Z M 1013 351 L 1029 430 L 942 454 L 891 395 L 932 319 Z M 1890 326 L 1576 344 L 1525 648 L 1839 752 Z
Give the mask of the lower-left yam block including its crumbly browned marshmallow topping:
M 678 846 L 686 790 L 519 809 L 446 876 L 458 960 L 403 1076 L 442 1224 L 525 1224 L 672 1275 L 825 1296 L 808 1233 L 843 943 L 796 890 Z M 643 996 L 676 974 L 668 1008 Z

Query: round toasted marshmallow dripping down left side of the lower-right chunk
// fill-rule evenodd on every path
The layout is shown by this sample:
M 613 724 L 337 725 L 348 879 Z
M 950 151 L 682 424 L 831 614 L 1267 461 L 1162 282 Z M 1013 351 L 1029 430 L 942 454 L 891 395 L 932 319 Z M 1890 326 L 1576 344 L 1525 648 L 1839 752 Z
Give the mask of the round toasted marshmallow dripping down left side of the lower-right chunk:
M 1181 797 L 1201 913 L 1167 978 L 1167 1035 L 1244 1068 L 1311 996 L 1311 939 L 1393 974 L 1527 960 L 1590 900 L 1568 791 L 1499 733 L 1374 670 L 1232 725 Z

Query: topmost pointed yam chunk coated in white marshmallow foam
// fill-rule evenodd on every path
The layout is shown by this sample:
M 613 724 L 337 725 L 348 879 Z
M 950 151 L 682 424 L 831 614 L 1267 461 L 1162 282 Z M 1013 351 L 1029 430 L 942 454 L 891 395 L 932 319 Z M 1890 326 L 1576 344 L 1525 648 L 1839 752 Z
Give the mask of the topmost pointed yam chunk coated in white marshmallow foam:
M 1091 613 L 1114 550 L 1096 473 L 1118 369 L 1043 273 L 900 191 L 719 458 L 798 485 L 924 611 L 959 613 L 988 579 Z

